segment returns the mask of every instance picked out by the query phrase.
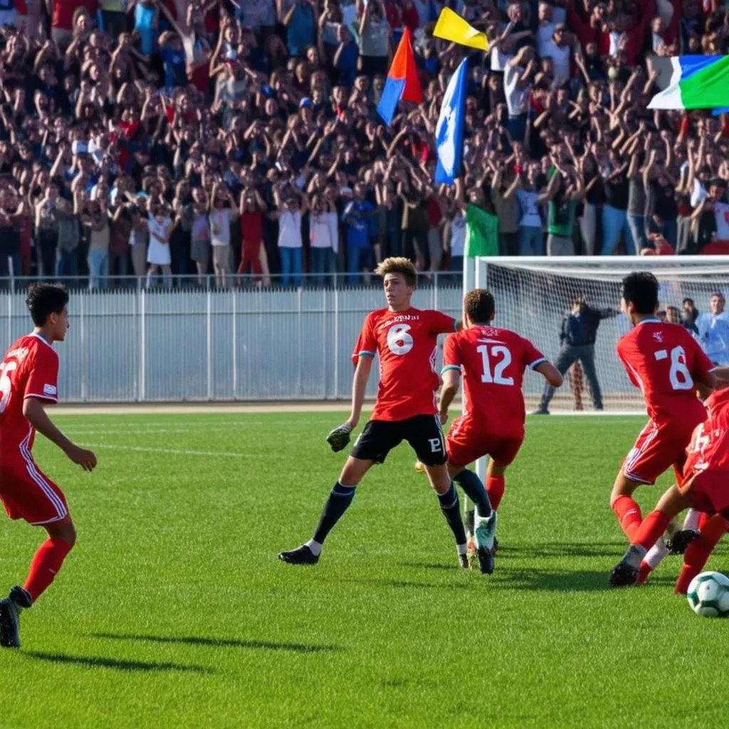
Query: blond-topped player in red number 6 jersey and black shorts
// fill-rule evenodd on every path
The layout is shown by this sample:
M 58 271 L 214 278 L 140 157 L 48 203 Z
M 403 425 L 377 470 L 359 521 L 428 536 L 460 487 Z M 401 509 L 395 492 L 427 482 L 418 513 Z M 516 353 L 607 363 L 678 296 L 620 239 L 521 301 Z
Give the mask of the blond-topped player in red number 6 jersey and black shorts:
M 357 340 L 356 370 L 352 384 L 352 409 L 346 423 L 327 437 L 333 451 L 342 450 L 359 422 L 364 391 L 375 354 L 380 357 L 380 384 L 370 421 L 352 448 L 339 480 L 324 504 L 312 539 L 278 558 L 290 564 L 316 564 L 321 545 L 354 498 L 356 486 L 389 451 L 407 440 L 423 461 L 440 501 L 448 526 L 456 537 L 461 566 L 467 567 L 466 532 L 459 497 L 445 466 L 445 439 L 436 408 L 440 378 L 435 371 L 437 337 L 453 332 L 458 323 L 438 311 L 421 311 L 410 305 L 418 273 L 407 258 L 387 258 L 378 265 L 387 308 L 367 315 Z

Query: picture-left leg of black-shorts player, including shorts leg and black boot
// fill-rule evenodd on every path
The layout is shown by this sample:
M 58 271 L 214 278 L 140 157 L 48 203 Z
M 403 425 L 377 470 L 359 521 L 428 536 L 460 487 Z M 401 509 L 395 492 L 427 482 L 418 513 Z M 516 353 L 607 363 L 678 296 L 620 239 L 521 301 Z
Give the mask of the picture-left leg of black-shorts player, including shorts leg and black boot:
M 400 423 L 369 421 L 359 434 L 337 483 L 335 483 L 324 508 L 319 523 L 308 542 L 294 550 L 281 552 L 278 558 L 289 564 L 316 564 L 321 555 L 321 545 L 327 534 L 343 517 L 344 512 L 354 499 L 356 487 L 367 471 L 375 463 L 382 463 L 389 451 L 402 440 Z

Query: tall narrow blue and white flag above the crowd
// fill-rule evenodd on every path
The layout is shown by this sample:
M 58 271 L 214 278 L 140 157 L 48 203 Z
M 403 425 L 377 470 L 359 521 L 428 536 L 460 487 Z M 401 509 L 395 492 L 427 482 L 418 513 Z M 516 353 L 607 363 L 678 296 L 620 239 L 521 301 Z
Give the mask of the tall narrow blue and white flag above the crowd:
M 440 117 L 435 128 L 436 184 L 453 184 L 461 174 L 463 161 L 463 124 L 466 116 L 466 82 L 468 59 L 464 58 L 456 69 L 443 97 Z

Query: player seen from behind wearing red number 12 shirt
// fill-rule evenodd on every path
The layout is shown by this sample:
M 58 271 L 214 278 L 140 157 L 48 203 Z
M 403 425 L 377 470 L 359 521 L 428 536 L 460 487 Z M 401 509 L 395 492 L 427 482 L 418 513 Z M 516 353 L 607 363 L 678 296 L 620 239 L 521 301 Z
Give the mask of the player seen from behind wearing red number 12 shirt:
M 448 472 L 476 506 L 475 551 L 481 571 L 488 573 L 494 570 L 496 510 L 504 495 L 504 472 L 524 440 L 524 370 L 537 371 L 553 387 L 563 381 L 559 370 L 529 340 L 492 327 L 494 314 L 490 291 L 475 289 L 466 295 L 465 328 L 446 338 L 443 347 L 440 391 L 440 421 L 445 423 L 463 373 L 463 413 L 453 421 L 445 450 Z M 491 456 L 485 491 L 480 478 L 466 468 L 482 456 Z

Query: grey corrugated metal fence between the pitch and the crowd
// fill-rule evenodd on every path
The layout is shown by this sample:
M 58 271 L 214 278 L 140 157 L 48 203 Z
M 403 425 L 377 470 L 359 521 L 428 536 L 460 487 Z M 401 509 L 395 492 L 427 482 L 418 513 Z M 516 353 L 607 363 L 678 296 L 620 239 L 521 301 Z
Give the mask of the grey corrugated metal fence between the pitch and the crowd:
M 458 280 L 424 282 L 416 305 L 458 316 Z M 71 327 L 58 345 L 64 402 L 346 399 L 364 316 L 385 305 L 379 281 L 227 290 L 184 281 L 171 291 L 113 283 L 71 289 Z M 6 346 L 31 327 L 24 288 L 3 294 Z M 375 371 L 368 394 L 377 380 Z

